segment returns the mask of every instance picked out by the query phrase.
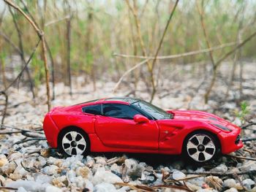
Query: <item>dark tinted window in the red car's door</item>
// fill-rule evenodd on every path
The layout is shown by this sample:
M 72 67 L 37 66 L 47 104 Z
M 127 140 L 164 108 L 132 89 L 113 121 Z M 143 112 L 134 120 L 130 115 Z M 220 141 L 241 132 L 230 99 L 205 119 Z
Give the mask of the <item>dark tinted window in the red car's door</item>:
M 103 104 L 103 115 L 112 118 L 133 119 L 138 110 L 126 104 Z

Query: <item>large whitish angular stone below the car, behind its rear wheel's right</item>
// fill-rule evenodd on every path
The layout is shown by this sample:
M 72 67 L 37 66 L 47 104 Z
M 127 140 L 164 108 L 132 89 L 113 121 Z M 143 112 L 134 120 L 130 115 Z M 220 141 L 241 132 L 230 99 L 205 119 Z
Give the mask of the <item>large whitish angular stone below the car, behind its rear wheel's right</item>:
M 97 185 L 99 183 L 123 183 L 120 177 L 112 172 L 105 171 L 104 167 L 99 167 L 97 172 L 94 174 L 92 178 L 92 183 Z

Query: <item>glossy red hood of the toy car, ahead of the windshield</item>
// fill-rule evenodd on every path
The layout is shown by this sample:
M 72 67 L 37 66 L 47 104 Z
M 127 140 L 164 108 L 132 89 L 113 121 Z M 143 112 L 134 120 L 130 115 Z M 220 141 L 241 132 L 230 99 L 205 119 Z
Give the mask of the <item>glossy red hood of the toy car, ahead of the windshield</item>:
M 168 111 L 173 113 L 174 120 L 198 120 L 200 122 L 211 124 L 212 126 L 224 126 L 230 130 L 239 128 L 238 126 L 230 123 L 229 121 L 219 118 L 208 112 L 192 111 L 192 110 L 172 110 Z M 240 129 L 240 128 L 239 128 Z

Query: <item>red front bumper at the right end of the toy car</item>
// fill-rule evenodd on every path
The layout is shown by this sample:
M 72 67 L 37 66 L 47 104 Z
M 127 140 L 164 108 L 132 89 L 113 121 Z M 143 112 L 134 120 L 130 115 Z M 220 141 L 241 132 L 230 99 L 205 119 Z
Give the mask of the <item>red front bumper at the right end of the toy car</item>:
M 222 146 L 222 154 L 231 153 L 243 147 L 243 142 L 239 136 L 240 131 L 240 128 L 237 128 L 230 133 L 219 132 L 218 136 Z

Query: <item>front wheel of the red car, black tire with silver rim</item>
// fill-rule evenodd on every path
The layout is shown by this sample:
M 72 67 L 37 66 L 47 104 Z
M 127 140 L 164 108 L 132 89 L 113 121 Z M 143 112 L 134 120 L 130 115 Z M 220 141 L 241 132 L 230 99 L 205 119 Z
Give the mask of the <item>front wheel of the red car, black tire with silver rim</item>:
M 207 163 L 217 158 L 219 142 L 207 131 L 195 131 L 184 139 L 183 155 L 195 164 Z

